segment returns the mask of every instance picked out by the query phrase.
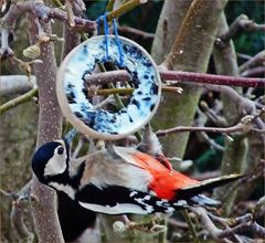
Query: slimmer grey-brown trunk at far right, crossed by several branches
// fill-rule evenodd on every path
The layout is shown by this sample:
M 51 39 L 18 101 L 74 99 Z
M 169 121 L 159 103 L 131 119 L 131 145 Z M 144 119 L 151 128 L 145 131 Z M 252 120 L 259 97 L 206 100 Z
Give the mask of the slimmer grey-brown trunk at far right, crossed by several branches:
M 222 13 L 219 23 L 219 33 L 222 35 L 229 30 L 224 13 Z M 236 61 L 236 53 L 232 41 L 225 42 L 222 47 L 215 46 L 213 50 L 213 59 L 218 74 L 239 76 L 239 65 Z M 237 92 L 242 92 L 242 88 L 236 88 Z M 236 124 L 242 118 L 242 109 L 237 104 L 232 103 L 230 97 L 222 95 L 224 117 L 229 125 Z M 222 175 L 241 173 L 244 172 L 246 167 L 246 155 L 248 150 L 248 141 L 245 137 L 237 137 L 234 141 L 225 140 L 225 150 L 222 159 L 221 171 Z M 231 186 L 222 187 L 215 190 L 215 196 L 222 198 L 226 194 Z M 236 199 L 237 189 L 225 199 L 223 204 L 224 214 L 230 214 L 234 201 Z

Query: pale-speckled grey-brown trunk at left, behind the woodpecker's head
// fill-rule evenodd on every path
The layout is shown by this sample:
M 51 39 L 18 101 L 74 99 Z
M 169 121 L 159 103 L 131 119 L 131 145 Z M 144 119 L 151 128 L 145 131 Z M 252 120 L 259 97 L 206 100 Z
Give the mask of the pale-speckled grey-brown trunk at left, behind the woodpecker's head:
M 43 24 L 43 30 L 51 33 L 51 25 Z M 38 34 L 36 19 L 29 14 L 29 33 L 31 44 Z M 39 56 L 43 64 L 35 64 L 34 74 L 39 87 L 39 126 L 36 147 L 61 137 L 62 114 L 55 95 L 56 62 L 52 43 L 41 45 Z M 55 192 L 41 184 L 33 176 L 32 212 L 39 242 L 64 242 L 56 213 Z

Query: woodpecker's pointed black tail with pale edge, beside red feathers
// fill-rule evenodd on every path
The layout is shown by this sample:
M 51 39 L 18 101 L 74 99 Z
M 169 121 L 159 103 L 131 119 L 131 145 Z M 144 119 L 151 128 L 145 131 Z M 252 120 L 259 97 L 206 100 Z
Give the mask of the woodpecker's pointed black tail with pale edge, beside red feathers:
M 193 184 L 193 186 L 178 190 L 177 194 L 176 194 L 176 199 L 192 200 L 194 202 L 198 200 L 200 201 L 201 199 L 204 200 L 205 198 L 200 196 L 201 192 L 209 191 L 216 187 L 221 187 L 223 184 L 235 181 L 243 177 L 245 177 L 245 175 L 229 175 L 229 176 L 218 177 L 218 178 L 213 178 L 213 179 L 208 179 L 208 180 L 201 181 L 198 184 Z M 199 198 L 197 198 L 195 196 L 198 196 Z M 209 201 L 209 203 L 203 203 L 203 204 L 214 204 L 214 203 L 218 204 L 218 201 L 215 201 L 213 203 L 211 203 Z

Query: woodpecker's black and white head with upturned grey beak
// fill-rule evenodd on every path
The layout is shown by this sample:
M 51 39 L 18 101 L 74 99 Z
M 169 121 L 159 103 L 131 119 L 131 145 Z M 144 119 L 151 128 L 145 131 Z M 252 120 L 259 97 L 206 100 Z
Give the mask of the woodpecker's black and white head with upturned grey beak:
M 70 160 L 70 144 L 76 130 L 73 129 L 61 140 L 54 140 L 41 146 L 32 158 L 32 169 L 42 183 L 49 178 L 65 172 Z

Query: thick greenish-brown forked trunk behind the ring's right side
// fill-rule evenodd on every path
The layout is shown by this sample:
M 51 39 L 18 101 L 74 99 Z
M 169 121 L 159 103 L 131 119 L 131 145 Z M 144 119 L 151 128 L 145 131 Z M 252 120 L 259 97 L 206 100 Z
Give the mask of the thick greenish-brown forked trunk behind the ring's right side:
M 167 40 L 169 44 L 173 42 L 170 54 L 165 62 L 167 68 L 201 73 L 206 72 L 216 35 L 219 18 L 226 2 L 226 0 L 218 0 L 214 2 L 195 0 L 192 2 L 176 40 Z M 186 12 L 188 1 L 168 0 L 165 2 L 163 9 L 158 25 L 160 30 L 157 30 L 158 36 L 161 36 L 165 19 L 168 19 L 168 22 L 178 23 L 177 28 L 179 28 L 179 21 L 181 21 L 181 19 L 176 19 L 178 17 L 171 15 L 170 13 L 172 9 L 180 9 L 182 12 Z M 183 17 L 183 13 L 180 17 Z M 169 31 L 172 30 L 169 29 Z M 161 41 L 161 38 L 156 39 L 152 50 L 163 50 L 163 41 Z M 156 43 L 156 41 L 160 44 Z M 165 57 L 165 55 L 167 55 L 166 50 L 163 54 L 161 53 L 162 51 L 153 51 L 153 57 L 157 62 L 161 61 L 161 56 Z M 179 125 L 190 126 L 192 124 L 197 103 L 200 97 L 200 89 L 193 88 L 190 85 L 183 85 L 183 89 L 182 95 L 167 95 L 163 97 L 157 118 L 153 119 L 157 120 L 157 123 L 155 123 L 156 127 L 169 128 Z M 183 157 L 188 138 L 189 134 L 187 133 L 172 135 L 162 139 L 166 155 Z

